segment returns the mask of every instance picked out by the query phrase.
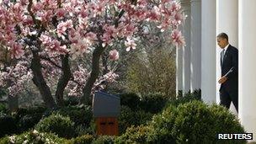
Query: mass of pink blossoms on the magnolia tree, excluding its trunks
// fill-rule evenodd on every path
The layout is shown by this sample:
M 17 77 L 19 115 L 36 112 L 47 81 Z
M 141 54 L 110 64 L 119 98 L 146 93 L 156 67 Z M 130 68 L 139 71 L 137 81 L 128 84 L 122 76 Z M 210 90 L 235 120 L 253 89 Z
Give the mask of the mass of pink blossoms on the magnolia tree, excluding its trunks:
M 61 2 L 61 5 L 58 2 Z M 143 29 L 139 28 L 142 28 L 143 24 L 152 22 L 157 23 L 162 31 L 174 29 L 172 35 L 169 35 L 173 45 L 184 45 L 184 37 L 177 29 L 184 21 L 184 15 L 180 3 L 174 0 L 160 0 L 157 3 L 148 0 L 137 0 L 136 3 L 116 0 L 86 2 L 83 0 L 33 0 L 31 11 L 35 16 L 36 24 L 28 12 L 28 4 L 28 0 L 3 0 L 0 5 L 1 46 L 7 48 L 10 56 L 19 58 L 19 61 L 23 59 L 31 61 L 33 57 L 30 49 L 27 48 L 28 43 L 24 42 L 24 37 L 29 37 L 29 35 L 35 36 L 35 40 L 31 39 L 33 45 L 41 42 L 40 47 L 35 49 L 40 51 L 40 56 L 51 58 L 61 66 L 58 55 L 68 53 L 72 58 L 86 55 L 101 43 L 104 46 L 112 44 L 118 46 L 124 42 L 126 51 L 134 50 L 136 40 L 133 37 L 141 38 Z M 117 13 L 121 10 L 125 10 L 125 13 L 118 18 Z M 17 26 L 21 29 L 21 33 Z M 40 38 L 36 36 L 39 32 Z M 147 36 L 147 34 L 143 36 L 145 35 Z M 150 42 L 151 39 L 147 40 Z M 105 47 L 105 49 L 109 48 L 110 46 Z M 118 51 L 109 51 L 109 59 L 118 60 Z M 49 61 L 40 60 L 40 63 L 43 66 L 42 72 L 46 83 L 51 88 L 56 88 L 61 69 L 56 68 Z M 74 63 L 79 65 L 81 61 L 74 61 Z M 18 65 L 16 69 L 15 67 L 8 69 L 8 76 L 0 71 L 0 85 L 6 81 L 3 77 L 8 78 L 11 85 L 5 87 L 9 89 L 9 93 L 15 95 L 24 88 L 26 77 L 29 77 L 29 74 L 26 74 L 29 66 Z M 82 95 L 90 72 L 77 68 L 77 65 L 72 65 L 71 69 L 74 80 L 77 82 L 70 82 L 67 90 L 74 95 Z M 102 82 L 115 82 L 116 77 L 113 71 L 100 76 L 93 85 L 93 91 L 104 88 Z

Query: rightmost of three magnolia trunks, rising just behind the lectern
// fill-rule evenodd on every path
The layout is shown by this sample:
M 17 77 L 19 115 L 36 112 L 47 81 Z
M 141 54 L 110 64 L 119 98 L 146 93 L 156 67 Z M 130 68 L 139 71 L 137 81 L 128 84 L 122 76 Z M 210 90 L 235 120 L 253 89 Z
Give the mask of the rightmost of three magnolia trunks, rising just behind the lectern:
M 88 82 L 83 88 L 83 97 L 80 101 L 83 104 L 89 104 L 89 105 L 92 104 L 91 92 L 92 92 L 93 84 L 95 83 L 96 79 L 99 77 L 99 59 L 103 52 L 104 52 L 104 47 L 102 47 L 102 45 L 100 44 L 93 51 L 92 72 L 88 77 Z

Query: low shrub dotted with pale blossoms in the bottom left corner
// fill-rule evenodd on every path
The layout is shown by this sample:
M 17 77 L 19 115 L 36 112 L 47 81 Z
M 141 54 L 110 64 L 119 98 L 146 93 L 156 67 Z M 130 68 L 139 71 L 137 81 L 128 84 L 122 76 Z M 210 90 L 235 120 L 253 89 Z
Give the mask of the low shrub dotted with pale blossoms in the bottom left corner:
M 38 131 L 24 132 L 20 135 L 6 136 L 0 140 L 1 144 L 17 143 L 17 144 L 54 144 L 67 143 L 67 140 L 59 138 L 51 133 L 41 133 Z

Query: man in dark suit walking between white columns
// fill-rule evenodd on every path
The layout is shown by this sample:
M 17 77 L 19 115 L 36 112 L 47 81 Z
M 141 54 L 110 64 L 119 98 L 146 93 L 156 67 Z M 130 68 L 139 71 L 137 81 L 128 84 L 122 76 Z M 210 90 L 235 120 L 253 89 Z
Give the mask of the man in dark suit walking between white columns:
M 217 35 L 217 43 L 221 47 L 221 105 L 229 109 L 231 102 L 238 112 L 238 50 L 228 43 L 225 33 Z

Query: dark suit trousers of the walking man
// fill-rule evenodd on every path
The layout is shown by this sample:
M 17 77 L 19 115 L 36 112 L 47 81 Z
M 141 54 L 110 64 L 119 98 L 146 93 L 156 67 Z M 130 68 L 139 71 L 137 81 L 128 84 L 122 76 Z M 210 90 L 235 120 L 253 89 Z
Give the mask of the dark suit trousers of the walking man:
M 221 88 L 220 99 L 221 99 L 221 105 L 223 105 L 227 109 L 230 108 L 230 104 L 232 102 L 235 108 L 237 109 L 237 113 L 238 113 L 238 91 L 227 92 L 225 88 Z

